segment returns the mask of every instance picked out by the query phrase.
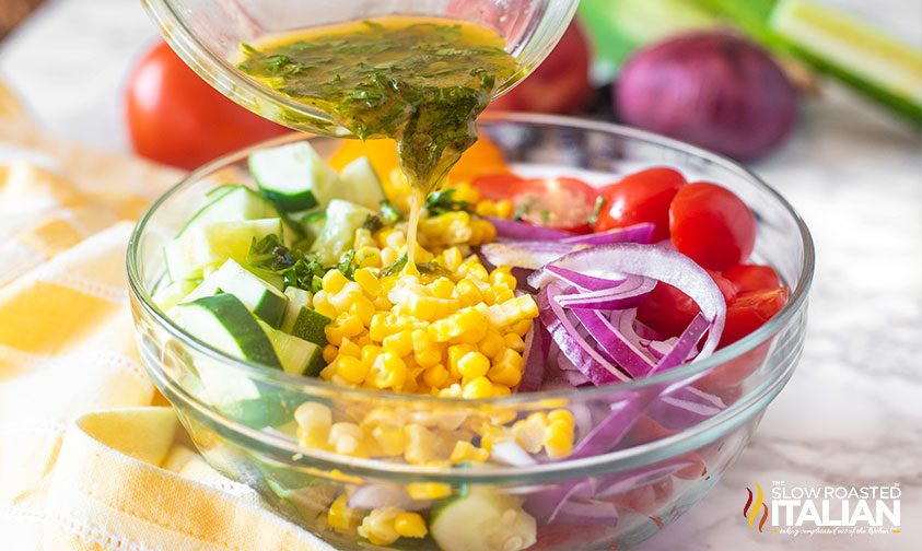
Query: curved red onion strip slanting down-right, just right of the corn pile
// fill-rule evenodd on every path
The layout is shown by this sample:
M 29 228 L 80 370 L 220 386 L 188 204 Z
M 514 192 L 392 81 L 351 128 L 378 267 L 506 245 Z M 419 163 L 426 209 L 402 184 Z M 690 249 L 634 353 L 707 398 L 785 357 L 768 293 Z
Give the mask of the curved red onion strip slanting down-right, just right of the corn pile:
M 561 353 L 595 385 L 629 380 L 628 375 L 580 336 L 576 327 L 557 302 L 557 296 L 561 293 L 557 284 L 550 284 L 538 294 L 538 312 L 541 313 L 541 321 Z M 593 313 L 593 310 L 584 312 Z

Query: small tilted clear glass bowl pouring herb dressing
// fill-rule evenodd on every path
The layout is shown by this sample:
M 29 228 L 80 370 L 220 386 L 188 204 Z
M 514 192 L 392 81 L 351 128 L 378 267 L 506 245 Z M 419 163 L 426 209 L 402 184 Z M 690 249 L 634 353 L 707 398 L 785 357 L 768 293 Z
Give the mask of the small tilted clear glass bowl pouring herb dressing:
M 579 0 L 142 0 L 166 42 L 202 79 L 259 115 L 306 132 L 347 136 L 323 112 L 241 73 L 241 43 L 380 15 L 422 15 L 479 23 L 505 38 L 522 68 L 497 86 L 502 95 L 550 54 Z

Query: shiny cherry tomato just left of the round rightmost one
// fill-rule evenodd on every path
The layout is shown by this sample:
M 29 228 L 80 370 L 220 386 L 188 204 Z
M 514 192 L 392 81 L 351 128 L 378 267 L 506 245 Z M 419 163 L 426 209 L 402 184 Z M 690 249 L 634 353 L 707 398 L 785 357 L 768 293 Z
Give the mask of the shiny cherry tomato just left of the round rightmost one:
M 653 241 L 669 236 L 669 203 L 686 184 L 685 177 L 672 168 L 647 168 L 629 174 L 620 181 L 602 189 L 605 202 L 598 211 L 593 231 L 604 232 L 641 222 L 656 225 Z

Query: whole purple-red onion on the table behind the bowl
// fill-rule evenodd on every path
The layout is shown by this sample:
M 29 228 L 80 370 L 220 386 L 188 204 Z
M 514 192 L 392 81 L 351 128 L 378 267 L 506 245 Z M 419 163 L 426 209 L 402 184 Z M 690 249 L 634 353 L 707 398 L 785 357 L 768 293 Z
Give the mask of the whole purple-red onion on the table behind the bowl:
M 766 154 L 791 130 L 796 95 L 769 55 L 725 33 L 677 36 L 635 52 L 615 87 L 629 125 L 738 160 Z

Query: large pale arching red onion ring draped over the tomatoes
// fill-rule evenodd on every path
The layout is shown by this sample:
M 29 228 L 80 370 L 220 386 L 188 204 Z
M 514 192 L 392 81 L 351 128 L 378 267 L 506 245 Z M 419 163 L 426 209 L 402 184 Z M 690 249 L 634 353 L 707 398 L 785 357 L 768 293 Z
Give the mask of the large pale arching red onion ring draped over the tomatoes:
M 571 253 L 555 260 L 552 266 L 593 276 L 604 269 L 666 282 L 690 296 L 711 325 L 696 361 L 711 355 L 720 342 L 726 321 L 723 294 L 703 268 L 676 250 L 633 243 L 602 245 Z M 529 278 L 529 283 L 539 289 L 553 278 L 551 272 L 541 270 Z M 580 365 L 575 360 L 574 363 Z

